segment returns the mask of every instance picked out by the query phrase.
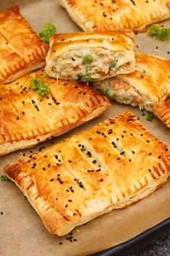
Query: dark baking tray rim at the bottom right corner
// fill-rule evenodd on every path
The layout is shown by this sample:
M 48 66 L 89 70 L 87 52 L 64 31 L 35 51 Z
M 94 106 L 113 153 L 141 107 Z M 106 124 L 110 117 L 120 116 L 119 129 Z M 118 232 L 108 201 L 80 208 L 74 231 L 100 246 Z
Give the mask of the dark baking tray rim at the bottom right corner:
M 164 226 L 170 225 L 170 218 L 167 218 L 166 220 L 163 220 L 161 223 L 158 223 L 156 226 L 153 226 L 153 228 L 148 228 L 143 233 L 139 234 L 138 236 L 135 236 L 132 239 L 129 239 L 128 241 L 125 241 L 122 244 L 116 245 L 115 247 L 111 247 L 110 249 L 107 249 L 103 252 L 98 252 L 91 256 L 111 256 L 115 255 L 116 253 L 122 252 L 124 249 L 127 249 L 128 247 L 132 246 L 133 244 L 136 244 L 138 241 L 141 241 L 145 239 L 150 234 L 158 231 L 158 229 L 163 228 Z

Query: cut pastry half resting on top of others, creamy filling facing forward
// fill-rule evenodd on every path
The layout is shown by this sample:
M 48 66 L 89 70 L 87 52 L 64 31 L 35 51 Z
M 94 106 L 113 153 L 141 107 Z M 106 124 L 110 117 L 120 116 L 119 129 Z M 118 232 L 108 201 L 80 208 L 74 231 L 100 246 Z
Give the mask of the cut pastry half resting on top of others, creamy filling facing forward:
M 51 37 L 46 73 L 88 83 L 135 68 L 134 33 L 69 33 Z

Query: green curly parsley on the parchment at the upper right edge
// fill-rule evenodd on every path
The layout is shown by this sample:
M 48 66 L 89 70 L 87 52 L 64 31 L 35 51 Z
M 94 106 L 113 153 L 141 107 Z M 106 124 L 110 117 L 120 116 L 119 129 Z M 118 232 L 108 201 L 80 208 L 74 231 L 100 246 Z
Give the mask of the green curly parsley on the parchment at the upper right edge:
M 170 28 L 161 28 L 160 25 L 154 24 L 149 28 L 148 33 L 158 40 L 166 41 L 170 37 Z

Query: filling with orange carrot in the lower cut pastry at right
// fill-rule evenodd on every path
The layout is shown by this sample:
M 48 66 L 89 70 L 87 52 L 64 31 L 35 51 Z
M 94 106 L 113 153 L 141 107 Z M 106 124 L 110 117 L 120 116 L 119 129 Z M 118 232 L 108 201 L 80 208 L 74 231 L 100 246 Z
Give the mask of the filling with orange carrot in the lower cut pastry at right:
M 140 110 L 153 110 L 153 102 L 145 96 L 140 94 L 134 86 L 118 79 L 105 79 L 100 82 L 93 83 L 93 88 L 101 94 L 107 96 L 109 99 L 114 99 L 123 104 L 130 104 L 132 107 L 139 106 Z

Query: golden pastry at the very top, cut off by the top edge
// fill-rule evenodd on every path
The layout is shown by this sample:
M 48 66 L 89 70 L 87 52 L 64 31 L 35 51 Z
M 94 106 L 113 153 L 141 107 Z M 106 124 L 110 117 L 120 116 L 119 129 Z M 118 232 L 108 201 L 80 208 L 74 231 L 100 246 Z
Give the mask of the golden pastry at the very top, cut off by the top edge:
M 143 30 L 170 17 L 169 0 L 59 0 L 85 31 Z

